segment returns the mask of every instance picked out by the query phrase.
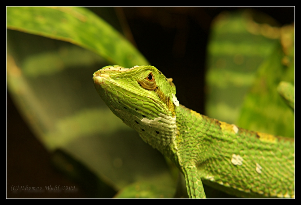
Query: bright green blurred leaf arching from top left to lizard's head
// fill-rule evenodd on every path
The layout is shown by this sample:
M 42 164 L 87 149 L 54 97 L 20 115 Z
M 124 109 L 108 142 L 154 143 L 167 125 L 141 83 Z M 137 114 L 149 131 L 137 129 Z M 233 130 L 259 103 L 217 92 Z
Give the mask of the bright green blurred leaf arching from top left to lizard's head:
M 125 68 L 149 64 L 114 28 L 85 8 L 7 7 L 7 28 L 71 42 Z

